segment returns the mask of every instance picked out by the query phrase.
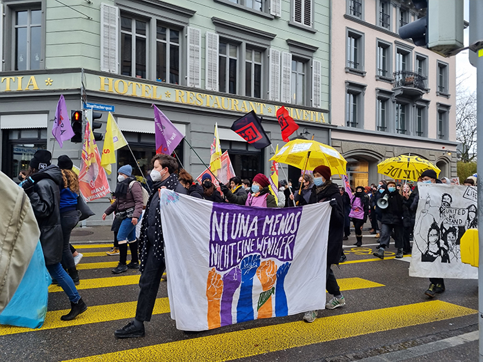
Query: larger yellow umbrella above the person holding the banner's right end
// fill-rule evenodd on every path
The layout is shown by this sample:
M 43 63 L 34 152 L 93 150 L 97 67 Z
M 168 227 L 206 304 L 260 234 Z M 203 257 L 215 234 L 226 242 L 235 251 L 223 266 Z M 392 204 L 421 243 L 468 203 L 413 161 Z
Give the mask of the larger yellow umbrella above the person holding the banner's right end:
M 329 145 L 308 139 L 287 142 L 270 161 L 286 163 L 301 170 L 313 170 L 319 165 L 326 165 L 331 168 L 332 174 L 346 174 L 347 161 L 342 154 Z

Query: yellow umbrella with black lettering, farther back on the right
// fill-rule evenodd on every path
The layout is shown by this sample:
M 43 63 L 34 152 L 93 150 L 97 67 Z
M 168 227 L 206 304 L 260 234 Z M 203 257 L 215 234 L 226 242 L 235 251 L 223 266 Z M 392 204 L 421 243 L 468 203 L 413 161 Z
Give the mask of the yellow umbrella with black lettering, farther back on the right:
M 417 181 L 422 172 L 426 170 L 434 170 L 436 174 L 441 172 L 428 160 L 406 154 L 391 157 L 377 165 L 377 172 L 397 180 Z

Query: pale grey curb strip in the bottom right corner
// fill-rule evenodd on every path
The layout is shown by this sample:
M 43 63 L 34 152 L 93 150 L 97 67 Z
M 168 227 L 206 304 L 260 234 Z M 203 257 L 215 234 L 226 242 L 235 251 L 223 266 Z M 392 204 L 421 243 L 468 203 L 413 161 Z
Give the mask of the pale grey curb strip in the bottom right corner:
M 366 359 L 359 359 L 359 362 L 396 362 L 406 361 L 407 359 L 413 359 L 415 357 L 424 356 L 433 352 L 446 350 L 447 348 L 453 348 L 457 345 L 477 341 L 480 338 L 480 332 L 469 332 L 460 334 L 459 336 L 453 336 L 450 338 L 442 339 L 424 345 L 417 345 L 415 347 L 408 348 L 406 350 L 395 351 L 391 353 L 381 354 L 380 356 L 368 357 Z

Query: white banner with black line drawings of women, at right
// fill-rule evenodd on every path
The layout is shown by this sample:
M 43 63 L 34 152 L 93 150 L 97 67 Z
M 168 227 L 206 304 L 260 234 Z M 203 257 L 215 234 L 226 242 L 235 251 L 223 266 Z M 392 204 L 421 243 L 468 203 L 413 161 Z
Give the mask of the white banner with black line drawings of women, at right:
M 460 239 L 477 228 L 477 191 L 473 186 L 417 183 L 419 202 L 409 276 L 477 279 L 464 264 Z

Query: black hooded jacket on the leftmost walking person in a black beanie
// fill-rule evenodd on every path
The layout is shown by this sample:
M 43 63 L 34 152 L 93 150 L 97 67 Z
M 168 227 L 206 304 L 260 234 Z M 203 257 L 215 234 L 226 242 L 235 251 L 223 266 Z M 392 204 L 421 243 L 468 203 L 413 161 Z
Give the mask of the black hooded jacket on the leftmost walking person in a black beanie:
M 33 188 L 27 190 L 40 229 L 40 243 L 46 265 L 60 263 L 63 235 L 60 223 L 60 190 L 62 172 L 50 165 L 32 174 Z M 32 190 L 33 189 L 33 190 Z

